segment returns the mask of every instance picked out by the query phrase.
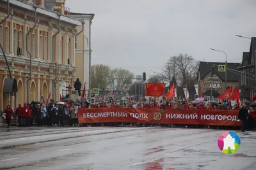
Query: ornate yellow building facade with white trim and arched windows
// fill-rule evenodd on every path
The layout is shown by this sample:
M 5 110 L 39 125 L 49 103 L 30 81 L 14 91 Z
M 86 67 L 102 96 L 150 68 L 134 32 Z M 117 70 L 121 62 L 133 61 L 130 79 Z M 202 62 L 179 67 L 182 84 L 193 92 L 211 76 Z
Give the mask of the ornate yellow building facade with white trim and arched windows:
M 15 108 L 17 104 L 42 101 L 40 100 L 42 96 L 47 99 L 50 93 L 52 99 L 58 100 L 61 90 L 65 86 L 73 86 L 76 80 L 75 30 L 77 25 L 81 25 L 81 21 L 60 13 L 60 34 L 54 37 L 54 44 L 52 44 L 52 36 L 59 30 L 59 17 L 54 11 L 36 7 L 36 27 L 28 36 L 28 51 L 32 56 L 31 75 L 29 74 L 30 55 L 26 52 L 26 34 L 33 27 L 35 21 L 33 4 L 12 1 L 10 16 L 0 25 L 0 42 L 12 76 L 17 80 L 18 86 L 16 97 L 3 92 L 4 81 L 10 76 L 0 50 L 1 111 L 8 104 Z M 7 3 L 1 3 L 0 20 L 6 16 Z M 54 49 L 54 60 L 52 60 L 52 48 Z M 54 80 L 56 71 L 57 78 Z M 30 80 L 29 76 L 31 76 Z

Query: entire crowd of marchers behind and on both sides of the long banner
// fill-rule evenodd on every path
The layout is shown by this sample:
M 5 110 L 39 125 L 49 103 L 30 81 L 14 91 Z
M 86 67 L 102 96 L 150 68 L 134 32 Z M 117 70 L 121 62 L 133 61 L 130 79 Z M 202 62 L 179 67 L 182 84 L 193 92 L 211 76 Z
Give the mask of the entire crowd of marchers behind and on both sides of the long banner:
M 6 113 L 7 126 L 10 127 L 10 120 L 12 117 L 17 117 L 20 127 L 28 127 L 33 125 L 33 122 L 38 126 L 77 126 L 78 118 L 77 111 L 79 108 L 99 108 L 99 107 L 120 107 L 120 108 L 169 108 L 169 109 L 181 109 L 181 110 L 237 110 L 239 118 L 241 118 L 241 124 L 243 131 L 255 130 L 255 108 L 246 106 L 240 108 L 237 104 L 233 104 L 228 101 L 223 103 L 221 101 L 123 101 L 118 103 L 117 101 L 99 101 L 98 103 L 72 103 L 67 102 L 64 104 L 57 104 L 51 100 L 51 103 L 36 103 L 26 104 L 22 106 L 19 104 L 18 108 L 13 114 L 10 105 L 6 107 L 4 113 Z M 239 110 L 239 111 L 238 111 Z M 246 111 L 245 111 L 246 110 Z M 244 116 L 246 113 L 246 116 Z M 99 124 L 98 124 L 99 125 Z M 102 125 L 102 124 L 101 124 Z M 115 124 L 106 124 L 115 125 Z

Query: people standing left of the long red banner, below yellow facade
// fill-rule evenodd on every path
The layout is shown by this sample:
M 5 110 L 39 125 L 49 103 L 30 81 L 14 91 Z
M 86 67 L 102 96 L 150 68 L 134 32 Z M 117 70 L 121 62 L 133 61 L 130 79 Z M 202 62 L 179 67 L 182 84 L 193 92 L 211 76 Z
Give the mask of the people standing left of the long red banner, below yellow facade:
M 81 107 L 81 106 L 80 106 Z M 37 126 L 77 126 L 77 110 L 79 104 L 65 103 L 63 105 L 57 103 L 24 103 L 19 104 L 15 113 L 10 105 L 6 107 L 7 127 L 10 127 L 12 118 L 17 118 L 19 127 L 29 127 L 35 122 Z

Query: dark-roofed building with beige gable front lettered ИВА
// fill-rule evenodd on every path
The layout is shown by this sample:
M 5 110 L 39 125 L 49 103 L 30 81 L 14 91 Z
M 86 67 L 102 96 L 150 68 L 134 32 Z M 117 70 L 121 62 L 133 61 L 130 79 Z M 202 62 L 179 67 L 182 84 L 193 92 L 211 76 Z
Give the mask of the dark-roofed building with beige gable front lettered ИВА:
M 225 72 L 218 71 L 219 65 L 225 65 L 225 62 L 200 62 L 198 70 L 198 94 L 204 92 L 204 96 L 218 97 L 225 92 Z M 211 73 L 211 67 L 214 66 L 214 74 Z M 227 88 L 239 87 L 239 74 L 236 69 L 239 63 L 227 63 Z

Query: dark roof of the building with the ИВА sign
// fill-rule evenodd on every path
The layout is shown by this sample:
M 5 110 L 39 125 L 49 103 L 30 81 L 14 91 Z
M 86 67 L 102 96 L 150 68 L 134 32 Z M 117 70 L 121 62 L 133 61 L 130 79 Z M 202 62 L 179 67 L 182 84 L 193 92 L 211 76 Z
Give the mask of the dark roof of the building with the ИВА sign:
M 214 73 L 222 80 L 225 81 L 225 72 L 218 71 L 218 65 L 225 65 L 225 62 L 203 62 L 200 61 L 199 63 L 199 70 L 200 79 L 204 78 L 208 73 L 211 72 L 211 67 L 214 66 Z M 236 70 L 239 67 L 239 63 L 228 62 L 227 68 Z M 227 69 L 226 68 L 226 69 Z M 230 71 L 227 69 L 227 81 L 238 81 L 239 75 L 234 73 L 234 71 Z

